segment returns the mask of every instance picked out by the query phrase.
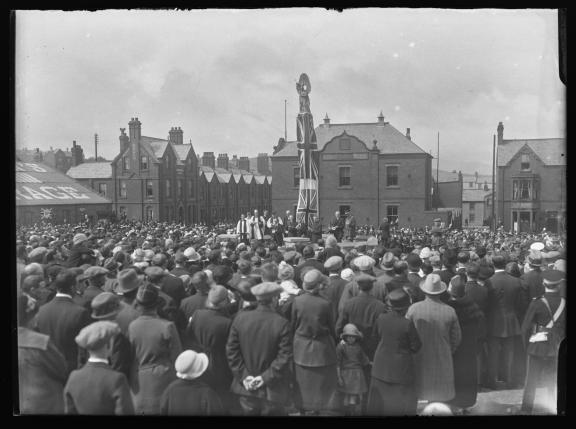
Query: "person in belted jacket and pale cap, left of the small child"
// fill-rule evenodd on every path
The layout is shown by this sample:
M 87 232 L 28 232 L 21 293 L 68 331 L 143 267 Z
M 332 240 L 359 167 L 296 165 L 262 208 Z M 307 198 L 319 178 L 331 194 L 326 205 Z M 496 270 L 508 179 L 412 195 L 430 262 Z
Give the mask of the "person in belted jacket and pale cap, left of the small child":
M 332 306 L 319 295 L 327 281 L 318 270 L 304 275 L 306 293 L 292 304 L 293 353 L 297 390 L 307 415 L 335 407 L 338 375 Z

